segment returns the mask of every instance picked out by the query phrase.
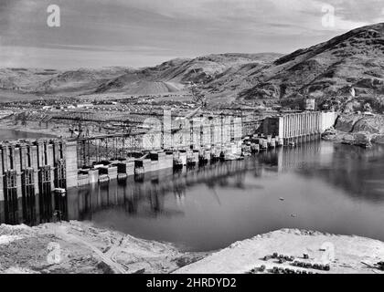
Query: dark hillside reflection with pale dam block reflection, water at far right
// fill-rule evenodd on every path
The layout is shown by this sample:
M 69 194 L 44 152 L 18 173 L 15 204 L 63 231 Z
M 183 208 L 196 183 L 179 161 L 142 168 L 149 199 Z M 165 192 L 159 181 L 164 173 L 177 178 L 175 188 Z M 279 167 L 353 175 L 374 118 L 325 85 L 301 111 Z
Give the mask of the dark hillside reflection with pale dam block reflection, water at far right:
M 322 143 L 281 153 L 279 161 L 306 178 L 318 178 L 353 199 L 384 202 L 384 147 L 372 150 Z M 283 167 L 284 168 L 284 167 Z

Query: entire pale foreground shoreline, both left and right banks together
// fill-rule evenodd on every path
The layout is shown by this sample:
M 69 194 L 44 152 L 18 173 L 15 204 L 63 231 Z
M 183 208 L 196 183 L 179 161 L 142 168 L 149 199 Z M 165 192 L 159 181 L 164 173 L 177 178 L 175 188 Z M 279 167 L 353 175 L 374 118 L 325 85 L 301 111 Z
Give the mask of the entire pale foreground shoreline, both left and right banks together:
M 181 252 L 175 245 L 135 238 L 87 222 L 0 225 L 0 274 L 244 274 L 257 266 L 284 266 L 262 257 L 279 253 L 311 261 L 324 259 L 325 243 L 335 246 L 327 273 L 379 273 L 368 265 L 384 259 L 384 243 L 356 235 L 281 229 L 211 252 Z M 323 246 L 324 247 L 324 246 Z

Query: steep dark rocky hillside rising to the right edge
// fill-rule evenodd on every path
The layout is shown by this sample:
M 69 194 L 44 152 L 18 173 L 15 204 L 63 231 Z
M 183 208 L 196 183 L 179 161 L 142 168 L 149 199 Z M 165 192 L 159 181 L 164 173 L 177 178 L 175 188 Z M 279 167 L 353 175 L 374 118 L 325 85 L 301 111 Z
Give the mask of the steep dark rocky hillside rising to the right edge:
M 364 26 L 315 47 L 280 57 L 247 77 L 253 86 L 240 99 L 317 99 L 384 96 L 384 24 Z M 379 102 L 380 100 L 376 100 Z

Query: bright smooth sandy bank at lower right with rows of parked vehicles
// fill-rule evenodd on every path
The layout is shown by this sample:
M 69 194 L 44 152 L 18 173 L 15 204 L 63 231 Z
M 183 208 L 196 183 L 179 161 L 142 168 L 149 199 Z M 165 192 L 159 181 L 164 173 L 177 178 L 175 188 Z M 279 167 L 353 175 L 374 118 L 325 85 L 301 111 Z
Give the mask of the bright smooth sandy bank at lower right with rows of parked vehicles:
M 332 252 L 334 250 L 334 253 Z M 276 259 L 265 261 L 265 255 L 293 255 L 295 260 L 322 264 L 328 263 L 329 272 L 315 269 L 304 269 L 292 266 L 293 262 L 278 264 Z M 309 255 L 304 259 L 303 255 Z M 273 266 L 306 270 L 313 273 L 376 273 L 384 271 L 373 266 L 384 260 L 384 243 L 358 236 L 328 235 L 318 232 L 283 229 L 265 235 L 257 235 L 221 251 L 208 255 L 206 258 L 189 266 L 184 266 L 176 273 L 180 274 L 242 274 L 252 268 L 266 266 L 268 273 Z M 364 262 L 365 264 L 363 264 Z

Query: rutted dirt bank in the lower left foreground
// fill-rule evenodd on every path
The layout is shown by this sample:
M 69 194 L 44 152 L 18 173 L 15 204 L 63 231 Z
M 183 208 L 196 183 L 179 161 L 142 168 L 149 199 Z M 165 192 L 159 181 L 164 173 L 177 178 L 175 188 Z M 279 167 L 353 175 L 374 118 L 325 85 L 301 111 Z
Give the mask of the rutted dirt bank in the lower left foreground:
M 0 274 L 170 273 L 205 255 L 87 223 L 0 225 Z

